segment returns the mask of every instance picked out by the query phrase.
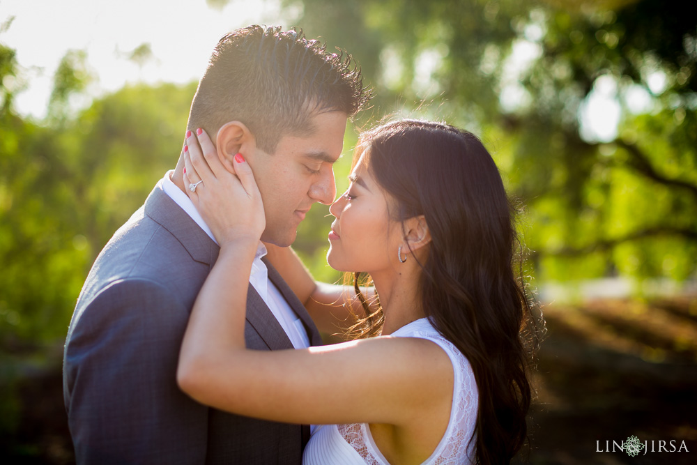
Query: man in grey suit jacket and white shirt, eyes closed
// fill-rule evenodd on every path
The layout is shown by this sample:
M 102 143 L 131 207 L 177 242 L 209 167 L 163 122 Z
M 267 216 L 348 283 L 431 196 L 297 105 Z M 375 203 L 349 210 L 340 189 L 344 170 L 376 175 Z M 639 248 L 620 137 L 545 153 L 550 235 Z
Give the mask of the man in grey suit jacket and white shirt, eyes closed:
M 262 240 L 287 246 L 310 206 L 335 198 L 332 163 L 347 117 L 366 100 L 350 56 L 296 31 L 250 26 L 215 47 L 187 128 L 205 129 L 224 162 L 243 148 L 266 211 Z M 187 319 L 218 251 L 185 195 L 195 187 L 183 181 L 182 154 L 107 243 L 77 301 L 63 360 L 77 462 L 300 463 L 309 427 L 208 409 L 176 386 Z M 321 344 L 264 252 L 250 277 L 247 346 Z

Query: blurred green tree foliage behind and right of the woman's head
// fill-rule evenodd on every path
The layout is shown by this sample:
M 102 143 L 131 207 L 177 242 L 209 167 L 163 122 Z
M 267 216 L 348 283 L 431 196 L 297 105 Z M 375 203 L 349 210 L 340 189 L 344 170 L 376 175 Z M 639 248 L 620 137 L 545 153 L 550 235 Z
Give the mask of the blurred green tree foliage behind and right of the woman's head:
M 694 275 L 697 21 L 680 3 L 301 3 L 307 36 L 350 50 L 376 88 L 368 117 L 482 137 L 528 206 L 540 277 Z M 602 93 L 620 123 L 598 136 L 581 116 Z

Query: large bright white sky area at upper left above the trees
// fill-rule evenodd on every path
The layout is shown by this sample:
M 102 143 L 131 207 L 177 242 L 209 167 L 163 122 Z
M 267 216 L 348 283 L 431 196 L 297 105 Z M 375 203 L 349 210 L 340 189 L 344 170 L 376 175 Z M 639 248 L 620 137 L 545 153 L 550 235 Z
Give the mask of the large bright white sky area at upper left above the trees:
M 86 52 L 95 77 L 87 96 L 135 82 L 198 80 L 213 46 L 228 31 L 258 23 L 289 26 L 280 8 L 274 0 L 1 0 L 0 21 L 15 18 L 2 40 L 17 50 L 28 81 L 16 109 L 46 116 L 53 75 L 68 50 Z M 89 100 L 74 103 L 84 106 Z

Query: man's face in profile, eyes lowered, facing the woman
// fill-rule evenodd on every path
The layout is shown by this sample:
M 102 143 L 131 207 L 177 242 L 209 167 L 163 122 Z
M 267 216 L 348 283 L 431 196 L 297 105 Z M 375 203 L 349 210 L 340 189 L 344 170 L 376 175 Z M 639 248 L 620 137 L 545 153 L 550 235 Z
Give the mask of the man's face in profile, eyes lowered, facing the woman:
M 262 241 L 291 245 L 312 204 L 332 204 L 337 194 L 332 165 L 344 148 L 346 119 L 342 112 L 317 114 L 312 135 L 286 135 L 273 154 L 256 149 L 249 162 L 266 213 Z

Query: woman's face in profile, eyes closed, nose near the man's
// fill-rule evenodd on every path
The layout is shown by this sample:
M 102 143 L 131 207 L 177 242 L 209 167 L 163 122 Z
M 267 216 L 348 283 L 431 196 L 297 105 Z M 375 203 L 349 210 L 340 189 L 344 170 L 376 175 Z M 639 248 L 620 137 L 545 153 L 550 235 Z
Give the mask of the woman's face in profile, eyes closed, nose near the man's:
M 365 152 L 348 178 L 348 190 L 329 208 L 336 220 L 329 233 L 327 262 L 336 270 L 374 275 L 395 266 L 401 227 L 390 221 L 388 195 L 370 174 Z

